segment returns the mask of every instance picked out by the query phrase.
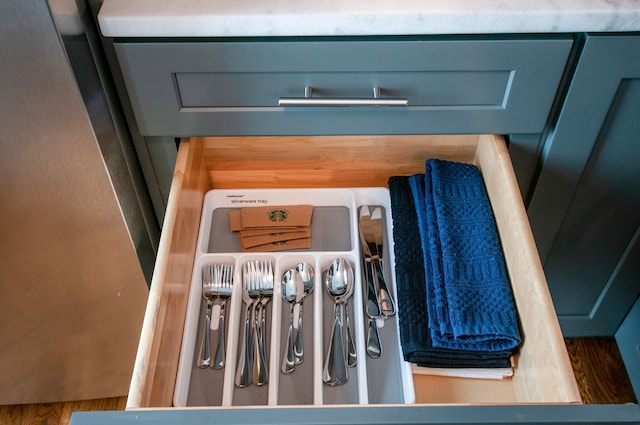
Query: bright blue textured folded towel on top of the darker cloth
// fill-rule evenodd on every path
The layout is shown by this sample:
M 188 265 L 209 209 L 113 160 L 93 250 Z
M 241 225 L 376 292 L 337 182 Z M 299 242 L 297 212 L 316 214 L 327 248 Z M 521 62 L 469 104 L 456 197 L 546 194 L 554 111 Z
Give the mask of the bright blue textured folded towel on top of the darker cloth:
M 502 247 L 480 171 L 430 159 L 409 178 L 423 245 L 434 347 L 516 348 L 520 332 Z

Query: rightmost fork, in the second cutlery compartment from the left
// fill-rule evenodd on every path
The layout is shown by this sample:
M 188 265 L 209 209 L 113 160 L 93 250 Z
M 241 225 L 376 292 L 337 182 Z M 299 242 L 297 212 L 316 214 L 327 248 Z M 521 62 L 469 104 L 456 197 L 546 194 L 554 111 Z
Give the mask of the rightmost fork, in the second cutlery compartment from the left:
M 256 276 L 260 298 L 256 301 L 256 368 L 254 382 L 264 385 L 269 381 L 269 364 L 267 360 L 267 310 L 266 305 L 273 297 L 273 267 L 270 261 L 262 261 L 258 265 Z

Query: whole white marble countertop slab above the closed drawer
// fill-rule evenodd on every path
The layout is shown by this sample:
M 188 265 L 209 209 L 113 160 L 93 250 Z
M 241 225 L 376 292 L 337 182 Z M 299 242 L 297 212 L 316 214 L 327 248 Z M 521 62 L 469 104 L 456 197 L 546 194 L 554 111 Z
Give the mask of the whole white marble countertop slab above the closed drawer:
M 640 31 L 640 0 L 104 0 L 107 37 Z

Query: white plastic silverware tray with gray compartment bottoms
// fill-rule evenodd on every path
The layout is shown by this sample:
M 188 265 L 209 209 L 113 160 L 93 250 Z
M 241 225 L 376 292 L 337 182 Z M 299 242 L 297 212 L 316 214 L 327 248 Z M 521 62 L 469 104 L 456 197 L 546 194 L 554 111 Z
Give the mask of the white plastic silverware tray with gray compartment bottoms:
M 311 248 L 295 251 L 244 253 L 235 233 L 229 229 L 229 211 L 251 206 L 313 205 Z M 384 274 L 395 293 L 393 238 L 389 193 L 384 188 L 357 189 L 242 189 L 212 190 L 204 200 L 200 234 L 191 279 L 178 376 L 174 392 L 176 406 L 286 406 L 333 404 L 413 403 L 410 364 L 404 362 L 398 335 L 397 316 L 378 320 L 383 354 L 378 359 L 365 351 L 362 265 L 358 237 L 358 208 L 380 206 L 385 217 Z M 323 272 L 342 257 L 354 269 L 355 289 L 349 312 L 356 340 L 358 363 L 349 369 L 345 385 L 331 387 L 322 382 L 322 368 L 330 340 L 334 301 L 323 282 Z M 269 260 L 274 266 L 274 294 L 267 304 L 266 385 L 238 388 L 234 384 L 240 339 L 244 323 L 242 266 L 252 260 Z M 280 365 L 289 325 L 289 304 L 282 300 L 280 282 L 284 272 L 300 262 L 315 271 L 314 290 L 304 302 L 305 360 L 291 374 Z M 234 265 L 233 295 L 226 307 L 225 367 L 197 367 L 198 348 L 205 301 L 202 297 L 202 268 L 206 264 Z M 214 305 L 214 320 L 218 302 Z M 217 331 L 216 331 L 217 332 Z M 215 333 L 212 336 L 215 337 Z M 215 342 L 215 338 L 212 338 Z M 215 350 L 215 345 L 213 347 Z

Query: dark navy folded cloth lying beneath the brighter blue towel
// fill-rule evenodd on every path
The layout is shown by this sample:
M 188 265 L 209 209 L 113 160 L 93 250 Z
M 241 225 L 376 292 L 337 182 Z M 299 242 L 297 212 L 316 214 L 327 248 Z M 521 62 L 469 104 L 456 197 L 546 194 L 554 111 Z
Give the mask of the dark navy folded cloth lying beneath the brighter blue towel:
M 422 242 L 409 177 L 391 177 L 389 193 L 393 217 L 398 325 L 404 359 L 427 367 L 510 367 L 510 350 L 486 352 L 433 346 L 429 329 Z

